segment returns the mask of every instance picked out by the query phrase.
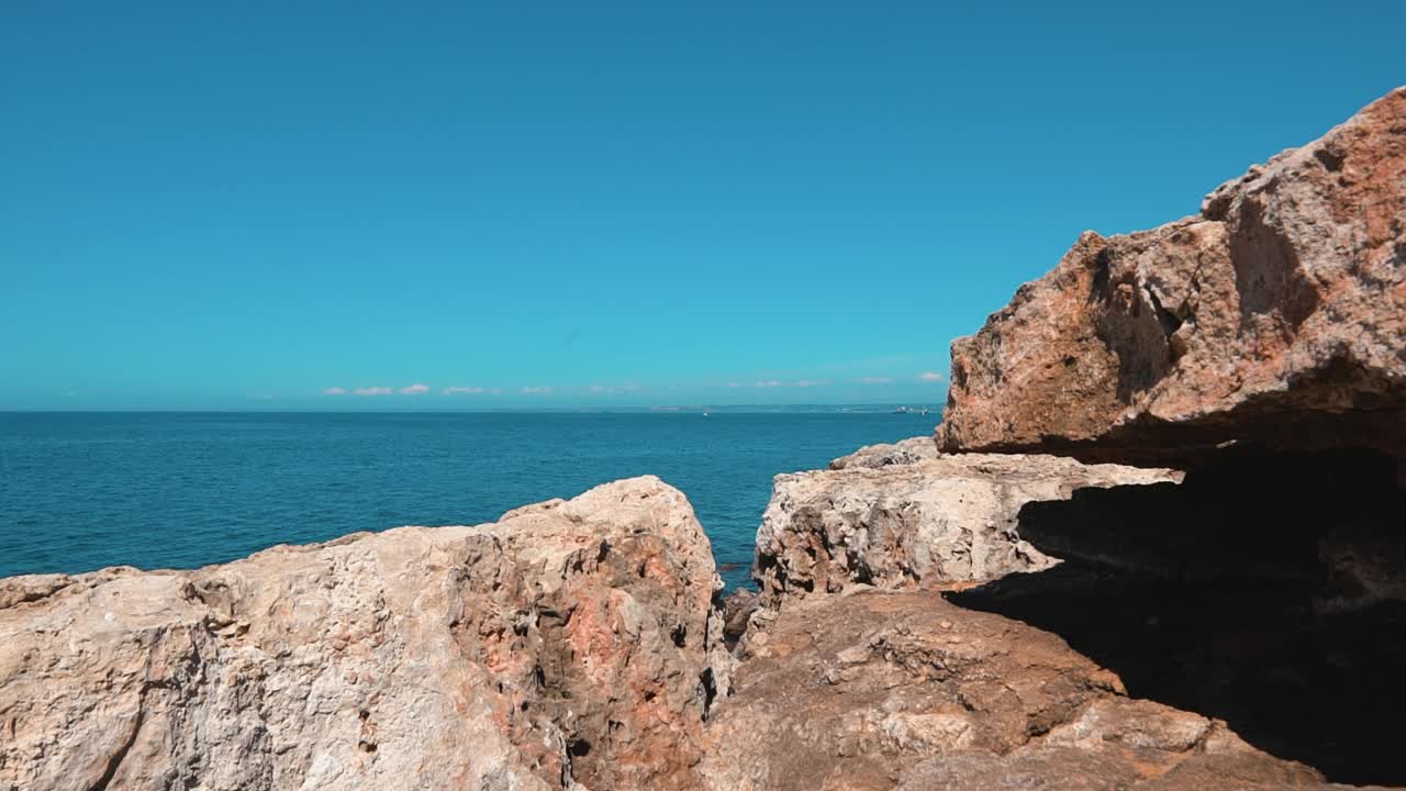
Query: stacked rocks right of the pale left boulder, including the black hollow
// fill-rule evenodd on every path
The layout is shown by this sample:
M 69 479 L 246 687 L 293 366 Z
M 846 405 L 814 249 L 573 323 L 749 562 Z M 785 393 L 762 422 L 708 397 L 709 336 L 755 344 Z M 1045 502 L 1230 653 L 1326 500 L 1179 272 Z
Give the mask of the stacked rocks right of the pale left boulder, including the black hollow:
M 1406 89 L 1084 234 L 950 380 L 959 455 L 778 477 L 713 788 L 1406 785 Z

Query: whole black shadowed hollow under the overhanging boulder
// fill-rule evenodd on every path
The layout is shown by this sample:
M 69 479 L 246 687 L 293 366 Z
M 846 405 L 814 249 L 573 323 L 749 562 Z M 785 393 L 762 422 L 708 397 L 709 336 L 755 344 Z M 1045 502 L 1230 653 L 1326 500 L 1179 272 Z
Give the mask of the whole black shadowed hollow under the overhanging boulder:
M 1181 486 L 1032 502 L 1066 562 L 948 594 L 1329 781 L 1406 784 L 1406 493 L 1369 452 L 1226 453 Z

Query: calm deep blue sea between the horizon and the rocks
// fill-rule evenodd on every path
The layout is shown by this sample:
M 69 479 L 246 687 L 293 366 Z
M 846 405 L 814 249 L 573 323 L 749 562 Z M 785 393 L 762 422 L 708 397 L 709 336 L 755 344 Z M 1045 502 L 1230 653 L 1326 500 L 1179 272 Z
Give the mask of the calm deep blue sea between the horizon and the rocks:
M 0 577 L 188 569 L 276 543 L 657 474 L 744 584 L 772 476 L 932 431 L 889 410 L 664 414 L 0 414 Z

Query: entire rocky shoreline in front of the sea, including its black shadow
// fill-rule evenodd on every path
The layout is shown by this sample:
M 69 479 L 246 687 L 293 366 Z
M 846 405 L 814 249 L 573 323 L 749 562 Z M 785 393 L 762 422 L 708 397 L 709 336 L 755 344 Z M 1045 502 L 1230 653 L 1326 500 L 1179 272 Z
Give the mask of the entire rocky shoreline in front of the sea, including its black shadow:
M 1085 232 L 935 436 L 0 580 L 0 790 L 1406 787 L 1406 89 Z

